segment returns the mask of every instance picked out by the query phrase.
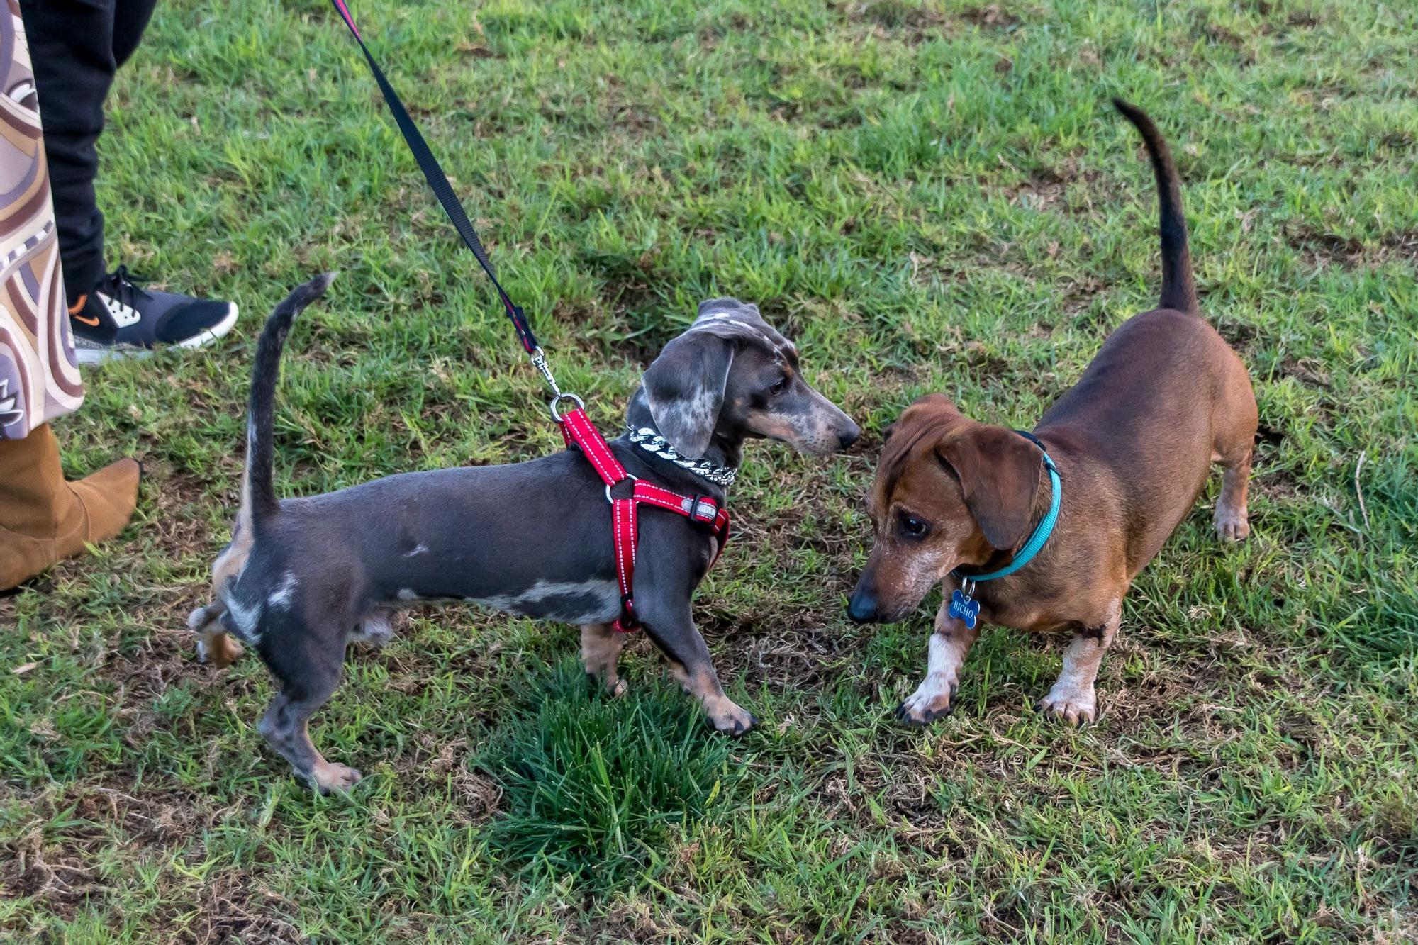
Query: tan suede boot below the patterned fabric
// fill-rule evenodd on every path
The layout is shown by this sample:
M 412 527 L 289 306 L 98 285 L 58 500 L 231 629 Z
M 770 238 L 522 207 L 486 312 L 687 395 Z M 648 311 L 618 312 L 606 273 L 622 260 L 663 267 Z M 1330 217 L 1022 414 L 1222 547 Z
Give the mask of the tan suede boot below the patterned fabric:
M 0 440 L 0 590 L 118 535 L 138 505 L 136 460 L 65 482 L 50 424 Z

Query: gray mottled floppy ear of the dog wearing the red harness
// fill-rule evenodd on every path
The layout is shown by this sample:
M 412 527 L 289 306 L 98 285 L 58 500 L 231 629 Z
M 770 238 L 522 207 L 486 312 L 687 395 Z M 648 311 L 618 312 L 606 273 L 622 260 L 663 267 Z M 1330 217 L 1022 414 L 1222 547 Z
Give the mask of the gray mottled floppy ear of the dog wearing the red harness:
M 718 333 L 689 331 L 651 362 L 642 379 L 649 416 L 659 434 L 698 460 L 709 448 L 723 389 L 733 363 L 733 345 Z

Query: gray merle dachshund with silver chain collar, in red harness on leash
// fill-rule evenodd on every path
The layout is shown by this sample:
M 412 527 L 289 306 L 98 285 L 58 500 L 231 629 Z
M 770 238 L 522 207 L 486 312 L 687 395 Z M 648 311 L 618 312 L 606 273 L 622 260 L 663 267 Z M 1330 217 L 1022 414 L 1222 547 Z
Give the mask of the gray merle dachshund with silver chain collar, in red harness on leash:
M 261 734 L 320 790 L 360 779 L 325 761 L 308 722 L 340 682 L 350 641 L 383 643 L 393 607 L 411 600 L 474 600 L 527 617 L 580 624 L 586 671 L 624 691 L 624 636 L 607 488 L 579 453 L 529 463 L 406 472 L 337 492 L 279 499 L 272 478 L 272 413 L 281 349 L 296 314 L 330 275 L 295 289 L 257 345 L 247 464 L 231 543 L 213 565 L 214 603 L 187 626 L 199 656 L 230 664 L 254 647 L 278 682 Z M 794 346 L 759 309 L 732 298 L 703 302 L 691 328 L 645 372 L 627 413 L 642 436 L 611 443 L 632 475 L 713 498 L 737 468 L 743 441 L 781 440 L 825 455 L 859 430 L 808 386 Z M 668 441 L 668 447 L 665 446 Z M 686 458 L 696 460 L 689 463 Z M 725 695 L 691 596 L 718 552 L 712 535 L 679 515 L 640 516 L 634 595 L 641 624 L 713 726 L 742 734 L 754 718 Z

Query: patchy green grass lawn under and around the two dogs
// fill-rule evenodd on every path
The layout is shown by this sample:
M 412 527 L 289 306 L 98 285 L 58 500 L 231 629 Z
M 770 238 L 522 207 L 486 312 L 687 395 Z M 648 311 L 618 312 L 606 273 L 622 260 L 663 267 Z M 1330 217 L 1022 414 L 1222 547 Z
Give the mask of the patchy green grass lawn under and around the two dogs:
M 0 600 L 0 938 L 1418 936 L 1418 10 L 354 7 L 603 427 L 715 294 L 862 420 L 828 463 L 750 447 L 698 599 L 763 726 L 705 734 L 644 641 L 605 701 L 566 678 L 570 627 L 420 610 L 315 725 L 366 780 L 313 797 L 255 732 L 264 670 L 194 663 L 251 341 L 294 284 L 343 271 L 285 356 L 282 492 L 559 436 L 328 7 L 174 0 L 112 95 L 111 255 L 244 315 L 88 372 L 57 424 L 75 474 L 149 478 L 118 541 Z M 1254 534 L 1218 546 L 1198 502 L 1127 599 L 1096 725 L 1029 709 L 1058 641 L 993 630 L 956 715 L 902 729 L 929 610 L 842 616 L 875 446 L 933 390 L 1029 424 L 1154 302 L 1113 94 L 1173 142 L 1205 311 L 1255 377 Z

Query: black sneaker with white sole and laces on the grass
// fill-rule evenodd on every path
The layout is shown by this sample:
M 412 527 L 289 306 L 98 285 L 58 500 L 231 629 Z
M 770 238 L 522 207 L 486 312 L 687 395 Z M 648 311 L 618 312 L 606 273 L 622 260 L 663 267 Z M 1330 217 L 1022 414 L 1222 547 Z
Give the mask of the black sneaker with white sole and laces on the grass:
M 69 311 L 74 353 L 81 365 L 98 365 L 111 358 L 146 358 L 157 345 L 201 348 L 235 324 L 234 302 L 152 292 L 139 288 L 122 265 Z

